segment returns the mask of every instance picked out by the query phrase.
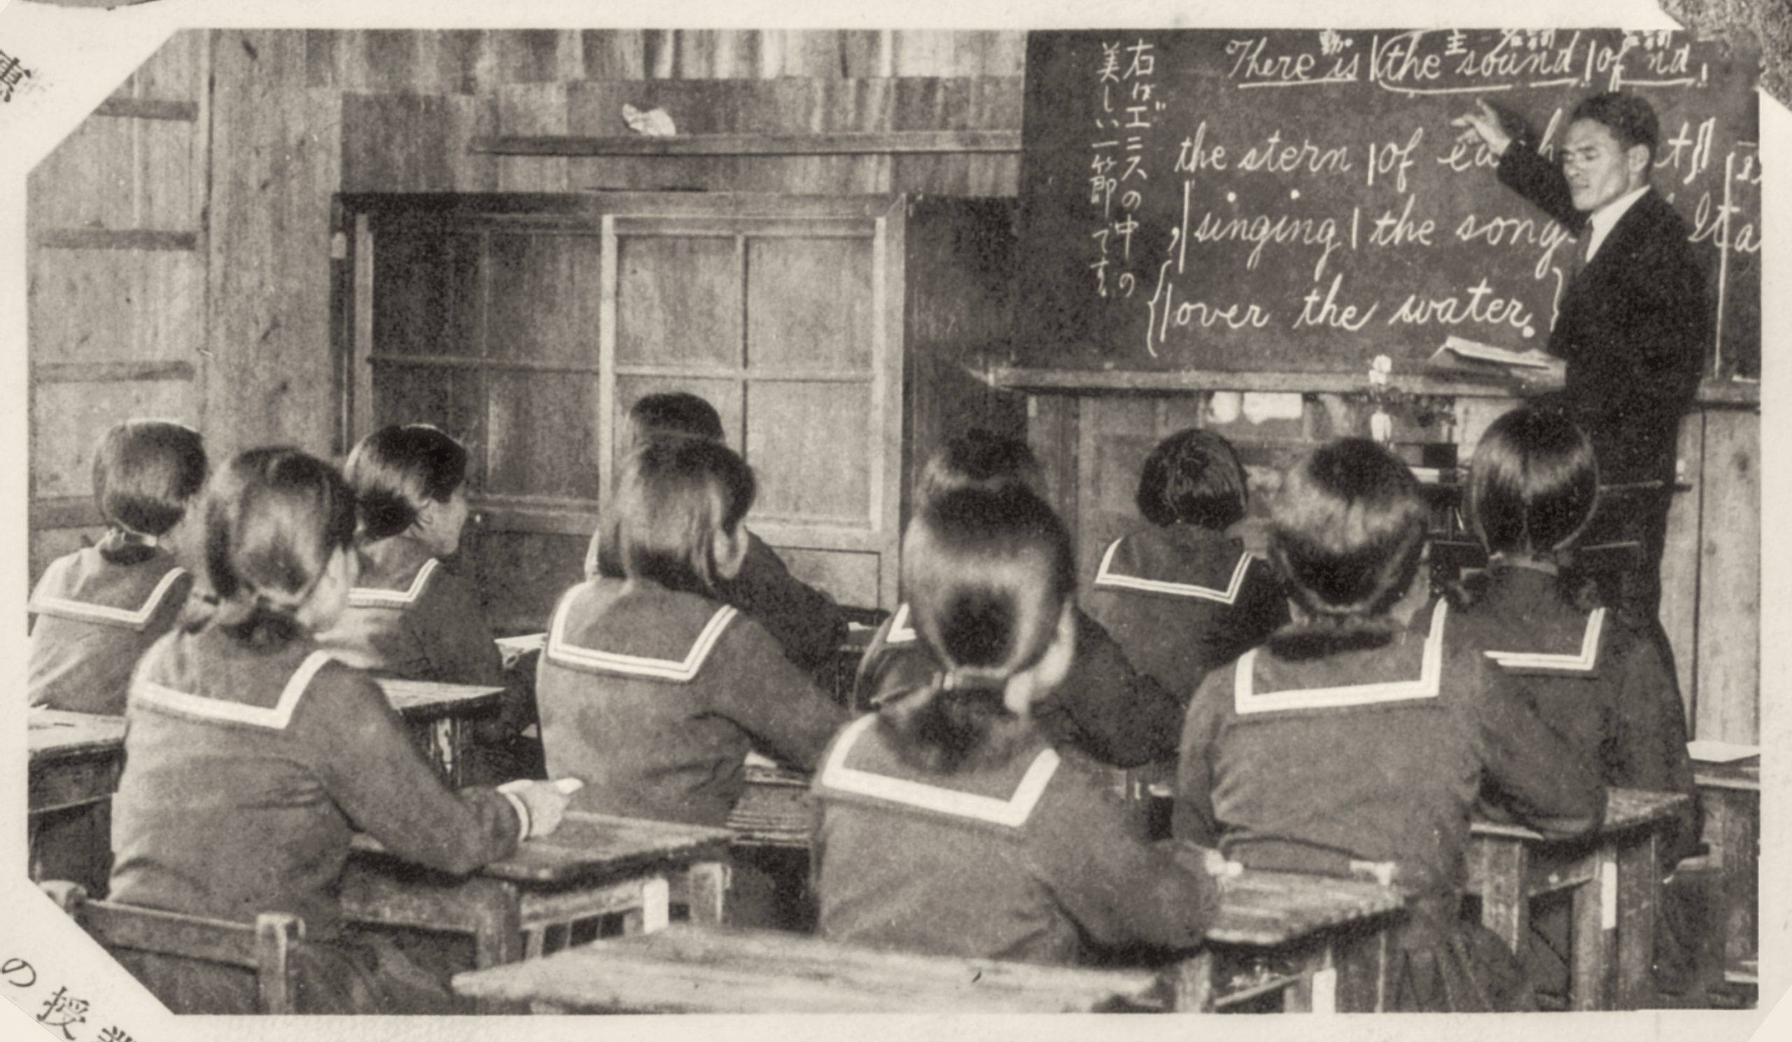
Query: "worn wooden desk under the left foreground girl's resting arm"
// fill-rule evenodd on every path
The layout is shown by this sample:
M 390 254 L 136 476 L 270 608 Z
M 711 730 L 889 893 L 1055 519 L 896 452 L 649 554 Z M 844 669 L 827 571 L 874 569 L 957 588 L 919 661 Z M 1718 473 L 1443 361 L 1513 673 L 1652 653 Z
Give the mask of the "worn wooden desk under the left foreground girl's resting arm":
M 672 891 L 694 922 L 719 924 L 733 834 L 676 821 L 572 811 L 516 854 L 455 877 L 418 868 L 357 836 L 342 875 L 342 913 L 358 922 L 473 934 L 477 965 L 545 951 L 577 920 L 624 915 L 625 931 L 665 925 Z

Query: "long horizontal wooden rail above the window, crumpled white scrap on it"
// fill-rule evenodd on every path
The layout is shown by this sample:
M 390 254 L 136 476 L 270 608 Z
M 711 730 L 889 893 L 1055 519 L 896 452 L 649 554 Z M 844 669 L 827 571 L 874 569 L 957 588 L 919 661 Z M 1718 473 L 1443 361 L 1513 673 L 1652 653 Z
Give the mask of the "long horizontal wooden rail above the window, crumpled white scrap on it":
M 873 156 L 1020 152 L 1020 131 L 842 131 L 823 135 L 482 136 L 470 152 L 495 156 Z

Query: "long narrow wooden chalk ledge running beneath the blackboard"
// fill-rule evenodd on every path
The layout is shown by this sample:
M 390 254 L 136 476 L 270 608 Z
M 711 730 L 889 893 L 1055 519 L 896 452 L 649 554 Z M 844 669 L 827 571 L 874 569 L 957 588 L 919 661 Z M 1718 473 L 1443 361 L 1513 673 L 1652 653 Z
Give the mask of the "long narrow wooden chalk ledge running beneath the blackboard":
M 1011 391 L 1054 393 L 1107 393 L 1107 391 L 1281 391 L 1303 395 L 1366 393 L 1360 373 L 1226 373 L 1210 369 L 1036 369 L 1021 366 L 991 366 L 984 375 L 991 387 Z M 1455 398 L 1514 398 L 1518 387 L 1503 380 L 1462 378 L 1457 375 L 1403 377 L 1400 387 L 1412 395 L 1446 395 Z M 1699 386 L 1701 405 L 1760 407 L 1762 386 L 1736 380 L 1704 380 Z

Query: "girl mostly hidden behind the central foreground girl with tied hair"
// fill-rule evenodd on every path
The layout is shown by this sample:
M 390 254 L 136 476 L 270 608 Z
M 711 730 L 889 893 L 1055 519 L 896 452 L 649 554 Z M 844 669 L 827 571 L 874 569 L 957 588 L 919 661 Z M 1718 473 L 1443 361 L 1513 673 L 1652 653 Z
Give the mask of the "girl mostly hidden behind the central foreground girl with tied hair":
M 948 441 L 926 463 L 916 502 L 925 509 L 928 502 L 962 488 L 1025 488 L 1038 497 L 1043 486 L 1045 473 L 1025 441 L 978 429 Z M 1188 692 L 1179 698 L 1134 669 L 1107 630 L 1081 608 L 1072 606 L 1072 619 L 1077 624 L 1077 655 L 1070 676 L 1032 707 L 1034 725 L 1059 750 L 1116 768 L 1174 757 Z M 874 707 L 928 683 L 937 669 L 934 653 L 916 637 L 909 604 L 898 604 L 866 647 L 855 699 Z

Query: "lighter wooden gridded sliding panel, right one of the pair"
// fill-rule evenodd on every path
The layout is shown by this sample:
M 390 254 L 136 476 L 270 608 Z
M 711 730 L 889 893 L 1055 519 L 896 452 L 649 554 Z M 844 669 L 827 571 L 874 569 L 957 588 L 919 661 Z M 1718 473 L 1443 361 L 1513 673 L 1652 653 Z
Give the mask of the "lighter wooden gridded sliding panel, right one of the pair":
M 606 486 L 634 402 L 701 395 L 758 473 L 753 529 L 840 603 L 892 606 L 900 213 L 607 215 Z

